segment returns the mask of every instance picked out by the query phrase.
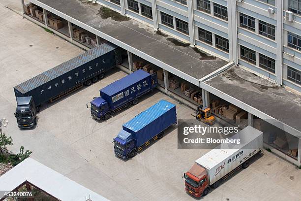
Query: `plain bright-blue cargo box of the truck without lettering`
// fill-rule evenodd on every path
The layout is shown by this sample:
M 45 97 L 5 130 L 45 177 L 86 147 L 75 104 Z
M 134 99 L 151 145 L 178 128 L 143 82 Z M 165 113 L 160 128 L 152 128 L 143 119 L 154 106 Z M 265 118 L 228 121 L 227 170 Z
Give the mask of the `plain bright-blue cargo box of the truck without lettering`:
M 160 100 L 125 123 L 122 128 L 132 134 L 136 147 L 140 147 L 175 123 L 177 123 L 176 105 Z

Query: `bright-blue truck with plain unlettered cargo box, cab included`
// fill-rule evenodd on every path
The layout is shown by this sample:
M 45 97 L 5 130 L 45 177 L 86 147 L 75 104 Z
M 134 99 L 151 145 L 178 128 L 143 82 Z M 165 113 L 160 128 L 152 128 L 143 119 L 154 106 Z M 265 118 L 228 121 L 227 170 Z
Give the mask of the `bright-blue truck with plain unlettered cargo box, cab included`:
M 176 105 L 160 100 L 123 124 L 114 138 L 115 155 L 122 159 L 134 157 L 151 141 L 162 138 L 164 130 L 173 124 L 177 124 Z

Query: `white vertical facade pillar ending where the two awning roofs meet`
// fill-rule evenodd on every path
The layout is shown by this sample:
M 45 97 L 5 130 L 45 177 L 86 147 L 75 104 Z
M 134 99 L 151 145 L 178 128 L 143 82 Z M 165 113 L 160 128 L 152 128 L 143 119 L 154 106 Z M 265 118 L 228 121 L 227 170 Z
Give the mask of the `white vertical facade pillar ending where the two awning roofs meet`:
M 228 0 L 229 61 L 238 64 L 236 0 Z

